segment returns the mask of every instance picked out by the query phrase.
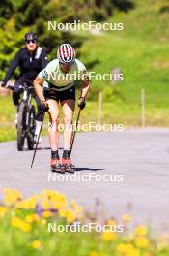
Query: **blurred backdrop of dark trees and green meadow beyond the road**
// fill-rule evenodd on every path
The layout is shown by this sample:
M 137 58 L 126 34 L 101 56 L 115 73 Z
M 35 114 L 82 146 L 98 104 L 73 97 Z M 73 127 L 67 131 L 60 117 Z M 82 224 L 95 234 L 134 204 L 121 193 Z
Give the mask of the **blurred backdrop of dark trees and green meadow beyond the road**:
M 2 0 L 0 4 L 0 80 L 15 52 L 24 46 L 24 34 L 37 31 L 49 56 L 69 42 L 89 71 L 111 73 L 119 68 L 124 80 L 92 80 L 83 120 L 98 118 L 99 91 L 103 93 L 102 123 L 141 125 L 141 89 L 146 93 L 146 125 L 169 125 L 169 1 L 168 0 Z M 48 31 L 47 21 L 74 20 L 124 23 L 123 31 Z M 14 73 L 13 79 L 18 74 Z M 14 106 L 10 97 L 0 97 L 0 140 L 15 138 Z M 92 111 L 91 111 L 92 110 Z

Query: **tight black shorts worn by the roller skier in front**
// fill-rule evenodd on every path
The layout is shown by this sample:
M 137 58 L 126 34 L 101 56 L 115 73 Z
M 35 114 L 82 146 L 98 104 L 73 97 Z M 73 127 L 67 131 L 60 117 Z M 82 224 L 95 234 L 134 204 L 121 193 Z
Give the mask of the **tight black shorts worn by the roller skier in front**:
M 63 102 L 65 100 L 75 101 L 75 87 L 72 86 L 67 90 L 57 91 L 54 87 L 44 89 L 43 91 L 45 100 L 55 100 L 57 102 Z

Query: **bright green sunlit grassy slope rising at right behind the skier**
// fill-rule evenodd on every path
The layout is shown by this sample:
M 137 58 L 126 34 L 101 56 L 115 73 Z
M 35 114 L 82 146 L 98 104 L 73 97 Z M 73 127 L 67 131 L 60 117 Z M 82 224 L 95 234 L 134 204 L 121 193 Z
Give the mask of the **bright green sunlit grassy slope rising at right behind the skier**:
M 139 103 L 145 88 L 147 103 L 158 108 L 168 106 L 169 97 L 169 14 L 160 13 L 166 1 L 134 1 L 127 14 L 116 13 L 109 22 L 123 22 L 124 31 L 109 31 L 89 36 L 81 48 L 82 60 L 97 62 L 92 71 L 111 73 L 119 67 L 124 81 L 114 86 L 125 104 Z M 164 22 L 165 20 L 165 22 Z M 94 90 L 104 90 L 110 82 L 92 81 Z

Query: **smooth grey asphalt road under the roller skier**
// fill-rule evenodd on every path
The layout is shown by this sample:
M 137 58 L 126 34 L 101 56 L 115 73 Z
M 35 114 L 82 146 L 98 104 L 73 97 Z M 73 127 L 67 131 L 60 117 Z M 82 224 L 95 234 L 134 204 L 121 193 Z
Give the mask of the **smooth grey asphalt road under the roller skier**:
M 99 215 L 115 216 L 121 224 L 121 216 L 129 212 L 132 225 L 148 223 L 157 232 L 169 231 L 169 130 L 77 134 L 75 181 L 72 175 L 51 176 L 47 138 L 33 169 L 33 151 L 17 152 L 15 147 L 15 142 L 0 144 L 1 186 L 16 187 L 25 196 L 55 189 L 89 210 L 96 209 L 99 198 Z

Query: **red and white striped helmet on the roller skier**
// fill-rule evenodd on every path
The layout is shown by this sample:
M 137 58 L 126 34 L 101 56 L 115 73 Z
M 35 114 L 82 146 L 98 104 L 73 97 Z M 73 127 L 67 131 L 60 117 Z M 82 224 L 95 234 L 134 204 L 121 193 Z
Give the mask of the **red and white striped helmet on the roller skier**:
M 75 60 L 75 50 L 70 44 L 62 44 L 58 48 L 57 58 L 61 63 L 70 63 Z

